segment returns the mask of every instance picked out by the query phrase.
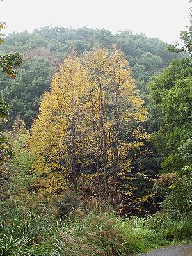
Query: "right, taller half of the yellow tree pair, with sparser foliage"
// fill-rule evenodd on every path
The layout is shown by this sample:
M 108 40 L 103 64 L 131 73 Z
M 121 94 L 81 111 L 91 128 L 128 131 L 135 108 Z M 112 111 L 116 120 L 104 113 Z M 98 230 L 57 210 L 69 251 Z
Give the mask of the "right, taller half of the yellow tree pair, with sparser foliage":
M 146 111 L 135 89 L 128 62 L 115 45 L 111 51 L 97 49 L 88 52 L 82 59 L 89 74 L 86 100 L 92 111 L 88 127 L 94 148 L 92 156 L 97 160 L 97 179 L 100 180 L 102 170 L 104 194 L 108 196 L 112 190 L 113 200 L 116 200 L 119 175 L 130 163 L 130 159 L 126 159 L 127 150 L 139 145 L 138 142 L 130 143 L 125 133 L 134 127 L 134 123 L 145 120 Z M 108 188 L 108 179 L 111 178 L 113 189 Z

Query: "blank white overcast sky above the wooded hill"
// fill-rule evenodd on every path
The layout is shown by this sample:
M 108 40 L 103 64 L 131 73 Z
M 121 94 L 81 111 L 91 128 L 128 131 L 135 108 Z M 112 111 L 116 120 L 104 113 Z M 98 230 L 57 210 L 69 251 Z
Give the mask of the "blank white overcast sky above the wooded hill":
M 131 29 L 168 43 L 179 39 L 189 24 L 188 0 L 3 0 L 4 33 L 33 31 L 43 26 Z

